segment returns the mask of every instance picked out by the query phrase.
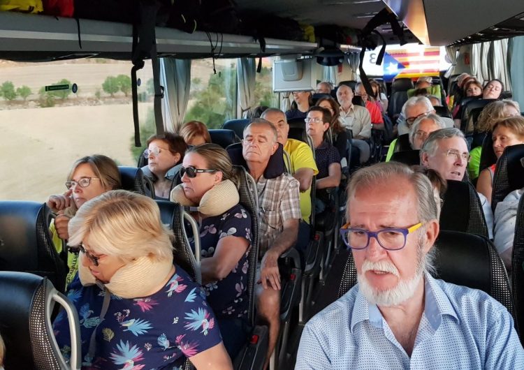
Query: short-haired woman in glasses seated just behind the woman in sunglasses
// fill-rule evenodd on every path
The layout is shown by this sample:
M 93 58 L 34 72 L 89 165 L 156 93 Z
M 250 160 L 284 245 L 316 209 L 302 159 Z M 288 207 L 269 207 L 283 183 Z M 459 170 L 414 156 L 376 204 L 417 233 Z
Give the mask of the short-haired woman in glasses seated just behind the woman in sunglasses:
M 144 151 L 147 165 L 142 171 L 153 182 L 155 199 L 169 199 L 186 150 L 187 144 L 182 136 L 174 133 L 152 135 L 147 139 L 147 149 Z

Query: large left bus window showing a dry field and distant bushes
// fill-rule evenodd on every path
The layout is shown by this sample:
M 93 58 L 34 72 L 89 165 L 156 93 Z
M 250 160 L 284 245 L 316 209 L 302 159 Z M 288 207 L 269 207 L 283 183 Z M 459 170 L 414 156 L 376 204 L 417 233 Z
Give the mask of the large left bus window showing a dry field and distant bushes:
M 130 61 L 110 59 L 0 62 L 2 199 L 43 202 L 63 193 L 71 165 L 89 154 L 136 165 L 131 67 Z M 153 98 L 150 61 L 138 77 L 140 126 L 147 126 L 148 116 L 154 126 L 147 114 Z M 68 87 L 49 88 L 57 84 Z

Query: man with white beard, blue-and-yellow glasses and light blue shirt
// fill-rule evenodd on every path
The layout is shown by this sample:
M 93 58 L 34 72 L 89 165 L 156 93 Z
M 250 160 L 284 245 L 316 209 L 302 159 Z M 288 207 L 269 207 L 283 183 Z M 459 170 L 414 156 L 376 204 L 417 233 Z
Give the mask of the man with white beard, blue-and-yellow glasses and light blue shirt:
M 307 323 L 296 369 L 524 369 L 507 309 L 431 276 L 438 205 L 425 175 L 372 165 L 347 198 L 358 284 Z

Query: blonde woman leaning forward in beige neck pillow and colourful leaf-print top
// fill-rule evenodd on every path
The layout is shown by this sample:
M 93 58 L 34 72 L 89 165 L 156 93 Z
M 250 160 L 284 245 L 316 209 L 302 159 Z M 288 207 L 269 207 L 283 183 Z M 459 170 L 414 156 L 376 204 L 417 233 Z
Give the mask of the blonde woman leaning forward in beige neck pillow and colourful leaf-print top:
M 173 232 L 157 203 L 129 191 L 89 200 L 71 219 L 80 248 L 68 297 L 80 316 L 82 369 L 232 369 L 201 287 L 173 264 Z M 71 355 L 64 311 L 54 320 Z

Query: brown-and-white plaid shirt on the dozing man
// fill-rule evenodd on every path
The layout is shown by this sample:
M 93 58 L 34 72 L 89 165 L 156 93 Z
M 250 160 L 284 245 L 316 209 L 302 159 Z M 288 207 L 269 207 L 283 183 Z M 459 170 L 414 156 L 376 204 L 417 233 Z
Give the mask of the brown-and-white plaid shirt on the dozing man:
M 256 183 L 260 207 L 259 258 L 284 230 L 284 221 L 302 218 L 298 185 L 298 180 L 287 173 L 275 179 L 261 176 Z

